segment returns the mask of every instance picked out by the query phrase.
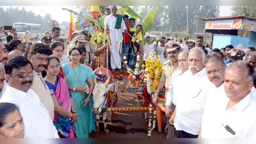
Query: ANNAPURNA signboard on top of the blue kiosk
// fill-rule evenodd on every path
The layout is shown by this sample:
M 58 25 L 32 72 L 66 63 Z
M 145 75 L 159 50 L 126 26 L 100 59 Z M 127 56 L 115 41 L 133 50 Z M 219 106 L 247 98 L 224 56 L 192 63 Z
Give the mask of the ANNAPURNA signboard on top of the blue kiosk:
M 243 19 L 212 20 L 205 22 L 205 29 L 241 29 Z

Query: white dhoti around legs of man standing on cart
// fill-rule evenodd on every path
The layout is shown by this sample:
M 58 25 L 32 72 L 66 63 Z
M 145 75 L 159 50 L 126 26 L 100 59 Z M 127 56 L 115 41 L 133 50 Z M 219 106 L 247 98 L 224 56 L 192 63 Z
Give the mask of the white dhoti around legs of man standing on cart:
M 119 54 L 119 49 L 120 49 L 120 42 L 111 43 L 112 53 L 111 53 L 110 63 L 111 63 L 112 69 L 121 68 L 121 57 Z

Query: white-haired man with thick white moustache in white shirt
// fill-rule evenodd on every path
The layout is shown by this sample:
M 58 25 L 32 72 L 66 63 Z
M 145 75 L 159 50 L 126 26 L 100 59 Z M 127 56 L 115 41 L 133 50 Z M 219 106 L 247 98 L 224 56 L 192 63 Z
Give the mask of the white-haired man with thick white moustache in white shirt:
M 179 138 L 197 138 L 201 129 L 206 93 L 209 88 L 204 68 L 205 52 L 195 47 L 188 55 L 189 70 L 177 79 L 173 88 L 173 97 L 177 97 L 177 106 L 170 118 Z

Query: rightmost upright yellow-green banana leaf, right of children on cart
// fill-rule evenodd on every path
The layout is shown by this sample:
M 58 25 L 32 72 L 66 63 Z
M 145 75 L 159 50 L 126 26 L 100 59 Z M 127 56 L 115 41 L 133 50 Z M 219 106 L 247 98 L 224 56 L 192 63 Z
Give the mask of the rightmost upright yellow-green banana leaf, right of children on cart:
M 143 31 L 146 32 L 154 27 L 154 16 L 158 8 L 155 10 L 152 10 L 148 12 L 147 15 L 145 15 L 145 19 L 143 20 Z

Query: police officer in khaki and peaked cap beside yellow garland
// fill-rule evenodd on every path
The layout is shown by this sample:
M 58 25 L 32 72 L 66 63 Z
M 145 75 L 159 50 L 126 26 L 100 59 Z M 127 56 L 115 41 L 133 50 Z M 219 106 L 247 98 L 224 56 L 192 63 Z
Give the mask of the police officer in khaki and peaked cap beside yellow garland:
M 160 82 L 157 86 L 157 90 L 156 93 L 154 95 L 154 100 L 153 103 L 157 104 L 157 102 L 159 102 L 159 93 L 161 92 L 161 90 L 163 90 L 163 88 L 165 87 L 165 97 L 164 99 L 166 100 L 167 94 L 168 94 L 168 88 L 169 88 L 169 84 L 170 81 L 172 79 L 172 74 L 179 70 L 179 65 L 178 65 L 178 55 L 180 52 L 180 45 L 177 44 L 177 42 L 175 42 L 174 40 L 171 40 L 169 42 L 167 42 L 165 44 L 164 49 L 166 49 L 166 52 L 168 54 L 168 61 L 165 61 L 163 63 L 163 69 L 162 69 L 162 74 L 161 74 L 161 78 L 160 78 Z M 172 104 L 173 106 L 173 104 Z M 174 111 L 174 108 L 171 108 L 172 112 Z M 175 130 L 173 125 L 170 125 L 169 122 L 169 118 L 167 118 L 167 125 L 168 125 L 168 138 L 175 138 Z

